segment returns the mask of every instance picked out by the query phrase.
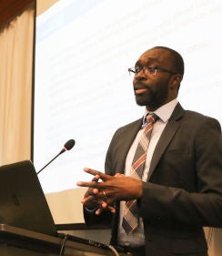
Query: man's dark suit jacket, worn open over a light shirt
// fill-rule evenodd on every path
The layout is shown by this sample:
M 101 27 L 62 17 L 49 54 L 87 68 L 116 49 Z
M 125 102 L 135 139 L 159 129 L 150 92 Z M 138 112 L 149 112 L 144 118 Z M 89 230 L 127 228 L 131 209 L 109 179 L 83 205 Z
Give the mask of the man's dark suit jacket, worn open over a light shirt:
M 119 128 L 106 154 L 106 173 L 123 173 L 142 119 Z M 222 138 L 219 123 L 179 104 L 166 124 L 138 201 L 146 255 L 206 256 L 204 226 L 222 228 Z M 116 244 L 118 203 L 111 242 Z M 86 224 L 108 221 L 85 211 Z

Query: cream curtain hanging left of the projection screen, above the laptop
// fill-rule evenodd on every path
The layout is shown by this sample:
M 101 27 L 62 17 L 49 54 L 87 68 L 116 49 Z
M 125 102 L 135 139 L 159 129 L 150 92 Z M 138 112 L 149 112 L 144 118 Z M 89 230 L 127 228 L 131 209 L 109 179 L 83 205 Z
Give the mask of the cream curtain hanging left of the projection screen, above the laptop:
M 31 157 L 35 5 L 0 28 L 0 165 Z

